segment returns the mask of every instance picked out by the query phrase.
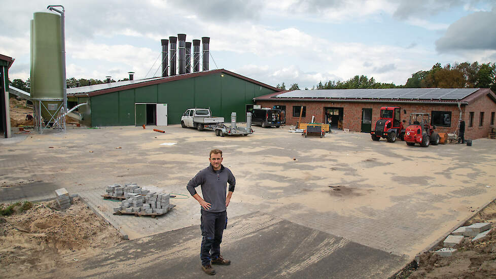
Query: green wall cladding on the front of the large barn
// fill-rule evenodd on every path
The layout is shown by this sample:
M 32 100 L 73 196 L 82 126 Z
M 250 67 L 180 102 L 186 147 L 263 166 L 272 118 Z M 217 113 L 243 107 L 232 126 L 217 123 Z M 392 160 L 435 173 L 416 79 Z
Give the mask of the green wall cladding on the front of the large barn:
M 91 97 L 91 125 L 135 125 L 135 103 L 167 103 L 168 124 L 181 123 L 184 111 L 195 107 L 210 108 L 214 116 L 224 117 L 226 122 L 231 121 L 231 112 L 236 112 L 237 121 L 243 122 L 246 104 L 272 92 L 225 73 L 171 81 Z

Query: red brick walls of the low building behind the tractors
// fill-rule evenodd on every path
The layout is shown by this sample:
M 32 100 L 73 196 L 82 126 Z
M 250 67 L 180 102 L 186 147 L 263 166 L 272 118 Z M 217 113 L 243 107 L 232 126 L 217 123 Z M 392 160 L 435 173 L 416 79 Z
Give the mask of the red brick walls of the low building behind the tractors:
M 308 123 L 315 116 L 315 122 L 325 122 L 324 108 L 343 108 L 343 128 L 350 131 L 360 132 L 362 129 L 362 109 L 372 109 L 372 129 L 375 127 L 375 122 L 379 119 L 380 107 L 383 106 L 399 106 L 401 107 L 401 119 L 405 120 L 405 126 L 408 126 L 410 121 L 410 113 L 429 113 L 432 116 L 432 111 L 449 111 L 451 112 L 451 127 L 436 127 L 438 132 L 454 132 L 459 118 L 459 110 L 456 103 L 447 104 L 406 104 L 406 103 L 365 103 L 365 102 L 321 102 L 321 101 L 257 101 L 262 108 L 272 108 L 274 105 L 286 106 L 286 124 L 295 125 L 298 122 L 298 117 L 293 117 L 293 106 L 306 106 L 306 116 L 302 117 L 302 123 Z M 406 110 L 406 114 L 404 113 Z M 484 111 L 484 126 L 479 127 L 479 112 Z M 465 119 L 465 138 L 475 139 L 486 137 L 490 131 L 491 112 L 496 111 L 496 103 L 488 96 L 483 96 L 475 102 L 471 103 L 468 111 L 474 112 L 474 127 L 468 127 L 469 115 L 465 114 L 466 108 L 462 106 L 462 118 Z M 495 120 L 496 121 L 496 120 Z

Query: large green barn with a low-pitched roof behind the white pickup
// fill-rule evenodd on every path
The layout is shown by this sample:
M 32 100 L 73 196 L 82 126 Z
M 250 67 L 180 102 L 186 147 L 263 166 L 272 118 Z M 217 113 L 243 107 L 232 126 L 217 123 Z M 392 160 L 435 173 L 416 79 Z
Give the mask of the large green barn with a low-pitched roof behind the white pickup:
M 69 108 L 81 106 L 87 126 L 158 125 L 181 123 L 189 108 L 210 108 L 229 121 L 236 112 L 246 121 L 253 98 L 280 91 L 225 69 L 171 77 L 130 80 L 68 88 Z M 72 106 L 71 106 L 72 104 Z

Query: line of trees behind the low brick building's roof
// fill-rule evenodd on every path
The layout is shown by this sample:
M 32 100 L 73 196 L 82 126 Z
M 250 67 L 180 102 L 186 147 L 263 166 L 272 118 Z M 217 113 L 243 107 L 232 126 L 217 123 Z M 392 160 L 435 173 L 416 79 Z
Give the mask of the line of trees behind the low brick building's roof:
M 281 90 L 298 90 L 298 83 L 291 85 L 286 89 L 283 83 L 277 84 Z M 378 88 L 491 88 L 496 92 L 496 64 L 482 63 L 477 61 L 473 63 L 455 63 L 454 65 L 446 64 L 444 67 L 441 63 L 436 63 L 429 71 L 418 71 L 412 74 L 405 85 L 396 85 L 394 83 L 380 83 L 371 77 L 365 75 L 355 76 L 347 81 L 328 81 L 319 82 L 311 89 L 378 89 Z M 308 89 L 308 88 L 305 88 Z

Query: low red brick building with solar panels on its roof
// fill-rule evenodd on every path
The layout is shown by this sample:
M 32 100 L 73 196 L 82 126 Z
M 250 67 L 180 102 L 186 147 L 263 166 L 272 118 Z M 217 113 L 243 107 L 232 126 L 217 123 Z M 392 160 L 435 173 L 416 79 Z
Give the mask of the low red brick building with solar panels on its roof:
M 429 113 L 439 132 L 454 132 L 460 118 L 465 138 L 487 137 L 494 128 L 496 95 L 488 88 L 321 89 L 276 92 L 254 98 L 262 108 L 286 112 L 295 125 L 303 107 L 302 123 L 332 123 L 333 129 L 370 132 L 383 106 L 401 107 L 401 119 L 410 113 Z

